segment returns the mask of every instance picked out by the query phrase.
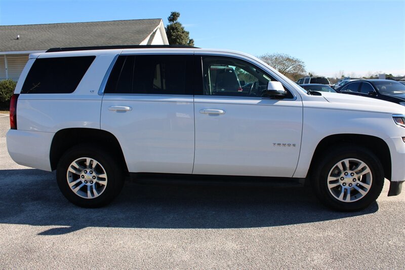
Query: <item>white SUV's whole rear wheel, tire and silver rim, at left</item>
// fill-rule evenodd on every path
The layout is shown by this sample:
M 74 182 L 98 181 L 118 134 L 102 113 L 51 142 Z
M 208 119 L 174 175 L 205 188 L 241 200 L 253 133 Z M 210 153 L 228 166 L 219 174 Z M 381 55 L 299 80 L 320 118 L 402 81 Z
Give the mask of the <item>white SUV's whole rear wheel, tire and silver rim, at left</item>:
M 77 145 L 59 160 L 57 181 L 62 194 L 81 207 L 100 207 L 118 194 L 124 183 L 122 167 L 97 146 Z

